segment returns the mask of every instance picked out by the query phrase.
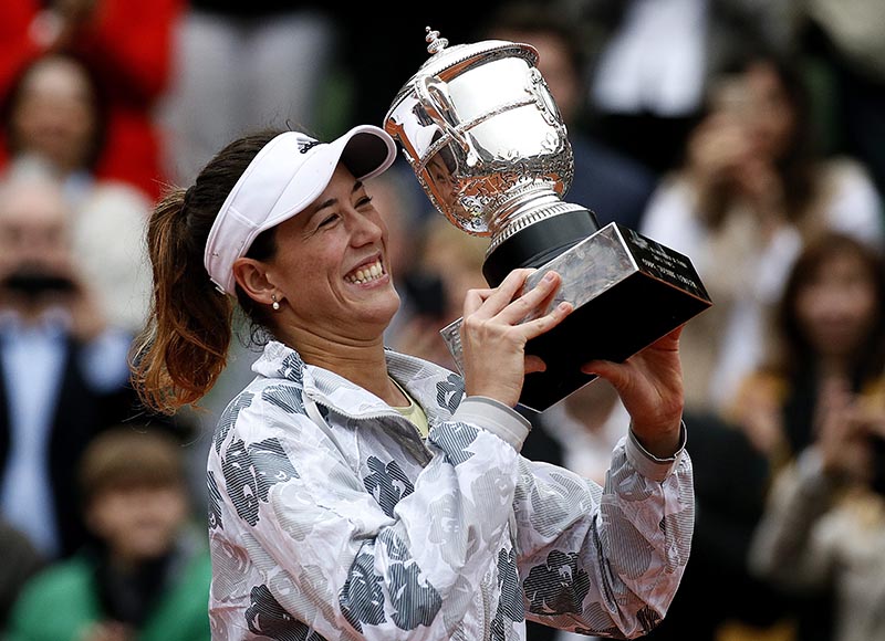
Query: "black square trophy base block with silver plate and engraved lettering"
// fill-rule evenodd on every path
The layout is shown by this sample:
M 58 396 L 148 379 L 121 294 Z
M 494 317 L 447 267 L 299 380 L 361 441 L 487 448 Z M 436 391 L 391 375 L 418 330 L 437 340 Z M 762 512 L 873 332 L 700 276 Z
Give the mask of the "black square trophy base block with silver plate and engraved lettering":
M 520 397 L 520 404 L 539 412 L 595 378 L 581 371 L 584 362 L 623 362 L 711 305 L 687 256 L 615 222 L 545 262 L 525 286 L 549 270 L 562 276 L 549 308 L 568 301 L 574 311 L 525 347 L 546 364 L 545 371 L 525 377 Z M 460 324 L 440 334 L 462 370 Z

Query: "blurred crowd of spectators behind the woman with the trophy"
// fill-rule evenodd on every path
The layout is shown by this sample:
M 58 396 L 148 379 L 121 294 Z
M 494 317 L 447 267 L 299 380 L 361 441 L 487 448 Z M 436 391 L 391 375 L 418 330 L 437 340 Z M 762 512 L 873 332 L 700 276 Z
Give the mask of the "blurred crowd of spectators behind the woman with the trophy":
M 0 639 L 209 639 L 205 452 L 256 353 L 243 336 L 192 412 L 138 406 L 148 212 L 248 130 L 382 125 L 426 27 L 533 45 L 574 154 L 564 199 L 688 255 L 712 298 L 681 339 L 696 535 L 648 638 L 885 639 L 881 17 L 881 0 L 4 0 Z M 436 212 L 405 159 L 367 189 L 398 252 L 387 341 L 456 367 L 439 329 L 485 286 L 488 239 Z M 627 423 L 607 383 L 527 416 L 527 456 L 606 482 Z

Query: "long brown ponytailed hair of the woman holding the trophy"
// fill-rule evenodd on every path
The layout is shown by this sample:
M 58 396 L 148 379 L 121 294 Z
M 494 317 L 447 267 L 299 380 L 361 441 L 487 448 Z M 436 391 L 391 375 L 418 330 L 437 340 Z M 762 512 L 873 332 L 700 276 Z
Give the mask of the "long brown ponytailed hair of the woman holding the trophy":
M 175 413 L 196 403 L 218 380 L 233 335 L 235 305 L 209 280 L 202 256 L 218 210 L 246 168 L 279 130 L 250 134 L 221 149 L 187 190 L 171 189 L 154 209 L 147 250 L 154 277 L 148 322 L 132 354 L 133 383 L 149 409 Z M 260 234 L 247 255 L 275 251 L 273 230 Z M 241 311 L 260 341 L 269 315 L 237 287 Z

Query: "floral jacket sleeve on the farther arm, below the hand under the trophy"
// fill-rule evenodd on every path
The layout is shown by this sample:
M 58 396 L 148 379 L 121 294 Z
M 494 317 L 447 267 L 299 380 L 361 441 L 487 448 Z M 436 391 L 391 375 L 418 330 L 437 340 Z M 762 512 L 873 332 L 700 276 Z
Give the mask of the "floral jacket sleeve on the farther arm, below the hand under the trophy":
M 691 461 L 657 460 L 629 432 L 605 486 L 520 461 L 518 554 L 528 619 L 584 634 L 645 635 L 681 580 L 694 532 Z

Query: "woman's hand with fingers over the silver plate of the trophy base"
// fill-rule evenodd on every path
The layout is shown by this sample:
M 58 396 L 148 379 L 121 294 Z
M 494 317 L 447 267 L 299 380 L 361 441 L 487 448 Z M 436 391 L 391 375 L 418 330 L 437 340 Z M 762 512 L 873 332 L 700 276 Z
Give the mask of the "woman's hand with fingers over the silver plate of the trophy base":
M 559 325 L 573 306 L 560 303 L 544 313 L 561 282 L 555 272 L 519 295 L 533 271 L 514 270 L 498 287 L 470 290 L 465 296 L 460 333 L 468 396 L 516 407 L 525 374 L 546 367 L 539 357 L 525 356 L 525 344 Z

